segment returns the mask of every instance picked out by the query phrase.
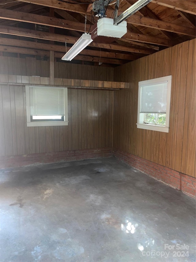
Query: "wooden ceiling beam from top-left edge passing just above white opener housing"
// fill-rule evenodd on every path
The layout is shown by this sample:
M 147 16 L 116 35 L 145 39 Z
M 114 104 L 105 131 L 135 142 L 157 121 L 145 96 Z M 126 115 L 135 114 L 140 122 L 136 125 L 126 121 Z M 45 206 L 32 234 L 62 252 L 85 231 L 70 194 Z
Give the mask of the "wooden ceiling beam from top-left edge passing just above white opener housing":
M 83 8 L 81 5 L 75 5 L 75 4 L 68 4 L 66 2 L 60 2 L 60 1 L 55 1 L 55 0 L 22 0 L 22 2 L 28 2 L 28 3 L 34 3 L 37 5 L 44 5 L 44 6 L 49 6 L 49 7 L 54 7 L 57 9 L 63 9 L 63 10 L 68 10 L 71 12 L 76 12 L 76 13 L 81 13 L 81 14 L 86 14 L 85 8 Z M 166 1 L 167 2 L 167 1 Z M 118 12 L 121 14 L 122 12 Z M 113 16 L 113 10 L 107 9 L 107 17 L 112 17 Z M 20 15 L 20 14 L 18 14 Z M 39 21 L 39 20 L 37 20 Z M 140 17 L 138 15 L 131 15 L 129 18 L 126 19 L 127 23 L 135 24 L 135 25 L 141 25 L 145 27 L 150 27 L 154 29 L 159 29 L 159 30 L 164 30 L 164 31 L 169 31 L 169 32 L 174 32 L 174 33 L 179 33 L 183 35 L 190 35 L 195 37 L 195 31 L 194 29 L 187 28 L 185 26 L 181 25 L 175 25 L 172 23 L 160 21 L 157 19 L 152 19 L 152 18 L 146 18 L 146 17 Z

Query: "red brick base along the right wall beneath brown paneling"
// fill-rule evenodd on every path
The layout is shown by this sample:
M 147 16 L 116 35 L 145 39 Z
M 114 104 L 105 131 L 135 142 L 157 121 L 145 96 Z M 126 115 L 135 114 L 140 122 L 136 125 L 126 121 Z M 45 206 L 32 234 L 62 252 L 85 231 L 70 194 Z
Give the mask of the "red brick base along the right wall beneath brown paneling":
M 115 148 L 113 149 L 113 155 L 118 160 L 127 163 L 150 177 L 181 190 L 191 197 L 196 197 L 196 178 Z

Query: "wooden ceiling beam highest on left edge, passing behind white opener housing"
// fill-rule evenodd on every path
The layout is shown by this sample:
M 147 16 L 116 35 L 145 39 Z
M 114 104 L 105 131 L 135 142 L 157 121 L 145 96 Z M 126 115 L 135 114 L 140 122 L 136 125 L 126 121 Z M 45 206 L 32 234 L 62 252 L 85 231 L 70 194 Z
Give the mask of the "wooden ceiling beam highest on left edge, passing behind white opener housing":
M 26 14 L 26 13 L 17 12 L 17 11 L 11 11 L 11 10 L 3 10 L 3 11 L 6 11 L 6 12 L 1 13 L 1 10 L 0 10 L 0 17 L 2 18 L 6 17 L 6 19 L 8 20 L 29 22 L 29 23 L 34 23 L 34 24 L 48 25 L 48 26 L 54 26 L 54 27 L 59 27 L 63 29 L 68 29 L 68 30 L 84 32 L 84 25 L 83 23 L 80 23 L 80 22 L 74 22 L 74 21 L 69 21 L 69 20 L 64 20 L 64 19 L 59 19 L 59 18 L 50 18 L 50 17 L 45 17 L 41 15 L 36 15 L 36 14 Z M 89 28 L 90 28 L 90 25 L 87 24 L 86 29 L 89 30 Z M 139 41 L 139 42 L 145 42 L 145 43 L 155 44 L 155 45 L 164 45 L 164 46 L 173 46 L 178 43 L 177 41 L 171 41 L 171 40 L 164 39 L 164 38 L 146 36 L 146 35 L 137 34 L 137 33 L 126 33 L 126 35 L 124 35 L 122 38 L 132 40 L 132 41 Z M 93 46 L 93 42 L 91 43 L 91 46 Z

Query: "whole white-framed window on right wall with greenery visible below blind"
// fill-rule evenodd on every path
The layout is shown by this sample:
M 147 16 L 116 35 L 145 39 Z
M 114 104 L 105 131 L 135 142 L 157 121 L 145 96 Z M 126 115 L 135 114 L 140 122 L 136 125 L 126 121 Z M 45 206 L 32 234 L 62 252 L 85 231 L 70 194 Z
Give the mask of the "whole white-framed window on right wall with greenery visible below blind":
M 139 82 L 137 127 L 168 133 L 170 96 L 171 76 Z

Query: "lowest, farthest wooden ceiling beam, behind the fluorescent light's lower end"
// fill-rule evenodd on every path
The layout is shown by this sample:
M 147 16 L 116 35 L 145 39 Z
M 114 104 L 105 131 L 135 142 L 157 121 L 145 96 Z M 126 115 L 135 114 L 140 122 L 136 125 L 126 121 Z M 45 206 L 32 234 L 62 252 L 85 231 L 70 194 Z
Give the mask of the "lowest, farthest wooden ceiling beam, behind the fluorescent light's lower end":
M 26 55 L 41 56 L 41 57 L 50 57 L 50 51 L 13 47 L 13 46 L 7 46 L 7 45 L 0 45 L 0 52 L 19 53 L 19 54 L 26 54 Z M 63 55 L 64 53 L 55 52 L 55 57 L 57 58 L 61 58 Z M 73 60 L 99 62 L 100 57 L 77 55 L 76 57 L 73 58 Z M 122 60 L 120 61 L 118 59 L 105 58 L 105 57 L 101 58 L 101 62 L 107 63 L 107 64 L 116 64 L 116 65 L 124 64 Z

